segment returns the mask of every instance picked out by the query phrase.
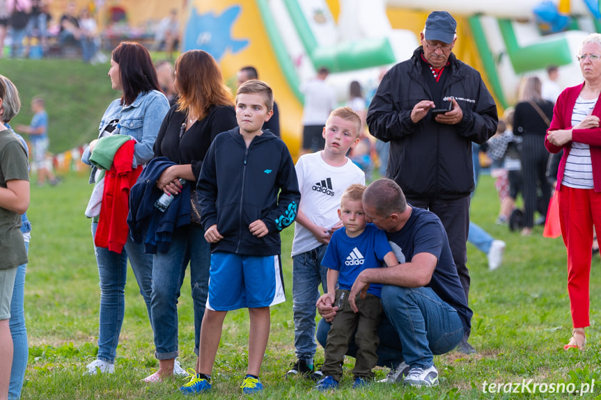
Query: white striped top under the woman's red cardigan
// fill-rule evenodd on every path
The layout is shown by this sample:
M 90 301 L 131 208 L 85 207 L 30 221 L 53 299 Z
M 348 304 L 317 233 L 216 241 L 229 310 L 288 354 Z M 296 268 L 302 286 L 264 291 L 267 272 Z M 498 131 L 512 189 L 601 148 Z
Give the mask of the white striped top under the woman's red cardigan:
M 579 124 L 586 115 L 591 115 L 597 99 L 585 100 L 578 96 L 572 111 L 572 127 Z M 561 184 L 575 189 L 593 189 L 593 165 L 591 149 L 588 145 L 572 142 L 570 153 L 565 161 L 565 171 Z

